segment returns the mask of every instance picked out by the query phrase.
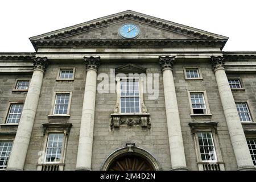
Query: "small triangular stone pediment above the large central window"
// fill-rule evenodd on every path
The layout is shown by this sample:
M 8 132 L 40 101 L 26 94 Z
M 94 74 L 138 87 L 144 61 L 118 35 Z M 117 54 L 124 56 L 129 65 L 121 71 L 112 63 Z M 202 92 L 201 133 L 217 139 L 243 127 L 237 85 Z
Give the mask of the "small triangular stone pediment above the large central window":
M 126 64 L 115 68 L 115 73 L 146 73 L 146 68 L 140 67 L 135 64 Z

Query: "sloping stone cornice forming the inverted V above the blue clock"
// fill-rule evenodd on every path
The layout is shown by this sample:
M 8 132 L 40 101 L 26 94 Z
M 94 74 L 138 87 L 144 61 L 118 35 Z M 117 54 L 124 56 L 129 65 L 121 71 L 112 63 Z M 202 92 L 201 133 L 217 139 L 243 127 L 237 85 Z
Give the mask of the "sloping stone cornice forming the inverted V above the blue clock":
M 135 20 L 140 23 L 148 24 L 151 27 L 162 28 L 163 30 L 176 32 L 178 34 L 186 35 L 194 39 L 227 39 L 225 36 L 197 30 L 196 28 L 183 26 L 181 24 L 169 22 L 166 20 L 161 20 L 152 16 L 142 15 L 132 11 L 127 11 L 126 13 L 123 13 L 123 14 L 108 16 L 108 18 L 105 18 L 105 19 L 90 21 L 87 23 L 81 23 L 79 24 L 80 26 L 72 26 L 73 28 L 72 27 L 63 28 L 59 31 L 53 31 L 40 36 L 35 36 L 30 38 L 30 40 L 64 39 L 64 38 L 68 38 L 69 36 L 81 34 L 86 31 L 92 31 L 97 28 L 122 22 L 124 20 Z

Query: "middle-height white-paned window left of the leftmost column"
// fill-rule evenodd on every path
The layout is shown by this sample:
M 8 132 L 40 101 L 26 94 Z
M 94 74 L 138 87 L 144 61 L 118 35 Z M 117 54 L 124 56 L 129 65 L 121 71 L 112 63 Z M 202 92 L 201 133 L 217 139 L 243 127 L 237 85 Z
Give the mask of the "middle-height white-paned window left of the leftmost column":
M 11 104 L 6 118 L 6 123 L 19 123 L 23 104 Z

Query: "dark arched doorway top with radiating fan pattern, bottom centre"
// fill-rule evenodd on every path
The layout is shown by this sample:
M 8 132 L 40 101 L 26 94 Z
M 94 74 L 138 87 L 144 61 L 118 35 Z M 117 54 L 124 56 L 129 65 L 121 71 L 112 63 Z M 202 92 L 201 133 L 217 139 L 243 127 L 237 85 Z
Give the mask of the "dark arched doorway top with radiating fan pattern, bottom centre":
M 125 155 L 115 159 L 108 171 L 154 171 L 155 169 L 146 160 L 136 155 Z

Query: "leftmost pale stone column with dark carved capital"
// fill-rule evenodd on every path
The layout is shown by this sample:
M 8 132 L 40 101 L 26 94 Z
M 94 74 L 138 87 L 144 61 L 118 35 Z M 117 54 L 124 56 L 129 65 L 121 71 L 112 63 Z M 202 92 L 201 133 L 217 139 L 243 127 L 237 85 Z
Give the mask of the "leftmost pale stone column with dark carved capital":
M 23 170 L 28 144 L 34 125 L 36 109 L 40 96 L 40 90 L 43 82 L 44 71 L 48 65 L 47 57 L 32 58 L 34 72 L 28 87 L 26 101 L 20 116 L 18 130 L 13 142 L 7 170 Z

